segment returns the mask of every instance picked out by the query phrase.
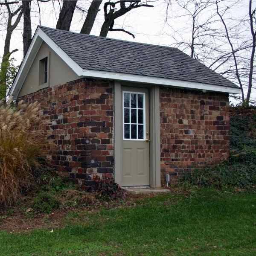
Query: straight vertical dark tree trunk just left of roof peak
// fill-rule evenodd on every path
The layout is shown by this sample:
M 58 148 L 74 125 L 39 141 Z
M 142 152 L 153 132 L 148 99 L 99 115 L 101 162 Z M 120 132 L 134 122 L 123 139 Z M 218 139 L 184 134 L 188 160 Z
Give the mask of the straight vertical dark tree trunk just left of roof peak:
M 32 40 L 31 36 L 31 19 L 30 19 L 30 2 L 28 0 L 22 1 L 23 11 L 23 57 L 29 49 L 29 45 Z

